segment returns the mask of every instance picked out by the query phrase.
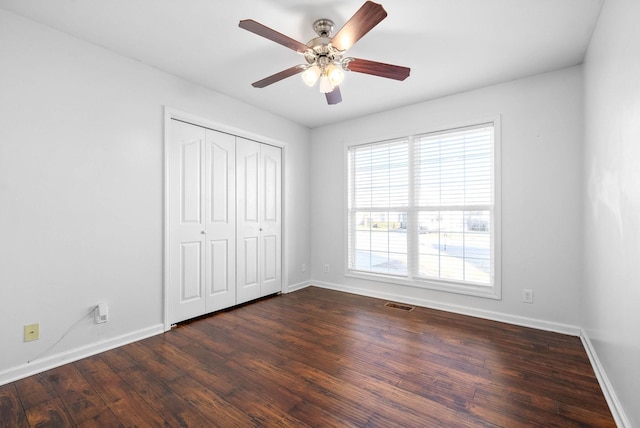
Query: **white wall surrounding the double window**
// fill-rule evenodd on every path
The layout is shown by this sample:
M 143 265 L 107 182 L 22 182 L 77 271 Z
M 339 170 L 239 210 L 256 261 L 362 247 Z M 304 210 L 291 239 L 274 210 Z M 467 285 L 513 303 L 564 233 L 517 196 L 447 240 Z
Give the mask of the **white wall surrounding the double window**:
M 472 72 L 472 71 L 470 71 Z M 582 281 L 582 71 L 534 76 L 312 130 L 312 280 L 577 334 Z M 502 300 L 345 277 L 344 143 L 501 116 Z M 330 272 L 324 273 L 324 264 Z M 534 304 L 521 303 L 523 288 Z

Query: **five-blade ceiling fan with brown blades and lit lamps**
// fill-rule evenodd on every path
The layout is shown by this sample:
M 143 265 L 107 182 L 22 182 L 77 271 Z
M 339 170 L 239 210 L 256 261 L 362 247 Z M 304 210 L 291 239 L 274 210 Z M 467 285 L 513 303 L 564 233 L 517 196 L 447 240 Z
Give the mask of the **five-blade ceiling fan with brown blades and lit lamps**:
M 334 36 L 331 35 L 334 26 L 333 21 L 326 18 L 315 21 L 313 29 L 318 34 L 318 37 L 311 39 L 307 44 L 298 42 L 252 19 L 240 21 L 238 24 L 240 28 L 293 49 L 304 55 L 307 62 L 258 80 L 252 83 L 252 86 L 264 88 L 287 77 L 302 73 L 302 80 L 308 86 L 313 86 L 319 81 L 320 92 L 326 95 L 327 103 L 338 104 L 342 101 L 339 85 L 344 78 L 343 70 L 395 80 L 406 79 L 411 72 L 410 68 L 366 59 L 344 57 L 347 49 L 351 48 L 362 36 L 386 17 L 387 12 L 381 5 L 367 1 Z

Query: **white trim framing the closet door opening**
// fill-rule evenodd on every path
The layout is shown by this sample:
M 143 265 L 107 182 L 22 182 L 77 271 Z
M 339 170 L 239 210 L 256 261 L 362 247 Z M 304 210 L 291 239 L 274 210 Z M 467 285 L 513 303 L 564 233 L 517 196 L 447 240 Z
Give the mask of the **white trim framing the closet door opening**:
M 280 147 L 282 150 L 282 287 L 280 292 L 286 293 L 286 284 L 288 284 L 288 275 L 287 275 L 287 250 L 286 250 L 286 205 L 287 198 L 284 197 L 285 193 L 285 183 L 286 183 L 286 169 L 285 169 L 285 159 L 286 159 L 286 144 L 275 140 L 273 138 L 265 137 L 263 135 L 259 135 L 244 129 L 236 128 L 224 123 L 216 122 L 198 115 L 194 115 L 192 113 L 188 113 L 182 110 L 174 109 L 168 106 L 164 107 L 164 236 L 163 236 L 163 290 L 164 290 L 164 331 L 168 331 L 171 329 L 171 321 L 169 316 L 169 298 L 171 296 L 169 290 L 169 143 L 171 138 L 171 120 L 176 119 L 183 122 L 191 123 L 192 125 L 201 126 L 203 128 L 209 128 L 215 131 L 224 132 L 227 134 L 232 134 L 238 137 L 246 138 L 248 140 L 257 141 L 259 143 L 269 144 L 271 146 Z

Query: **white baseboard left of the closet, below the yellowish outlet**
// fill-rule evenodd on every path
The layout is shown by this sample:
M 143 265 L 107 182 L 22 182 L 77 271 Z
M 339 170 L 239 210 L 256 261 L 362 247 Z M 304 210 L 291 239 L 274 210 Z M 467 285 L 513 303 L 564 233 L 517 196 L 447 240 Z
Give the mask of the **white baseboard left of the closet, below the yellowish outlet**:
M 45 357 L 30 363 L 11 367 L 6 370 L 0 371 L 0 385 L 15 382 L 16 380 L 23 379 L 25 377 L 32 376 L 34 374 L 38 374 L 56 367 L 60 367 L 62 365 L 72 363 L 82 358 L 90 357 L 92 355 L 99 354 L 101 352 L 117 348 L 119 346 L 137 342 L 138 340 L 146 339 L 147 337 L 155 336 L 160 333 L 164 333 L 164 327 L 162 324 L 157 324 L 131 333 L 123 334 L 121 336 L 101 340 L 99 342 L 60 352 L 58 354 L 51 355 L 49 357 Z

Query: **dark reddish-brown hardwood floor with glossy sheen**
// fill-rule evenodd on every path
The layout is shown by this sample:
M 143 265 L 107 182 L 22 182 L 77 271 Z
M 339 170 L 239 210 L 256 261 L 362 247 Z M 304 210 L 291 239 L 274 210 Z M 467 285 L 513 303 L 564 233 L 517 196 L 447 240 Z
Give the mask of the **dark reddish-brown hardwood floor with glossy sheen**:
M 0 426 L 615 426 L 580 340 L 309 287 L 0 386 Z

